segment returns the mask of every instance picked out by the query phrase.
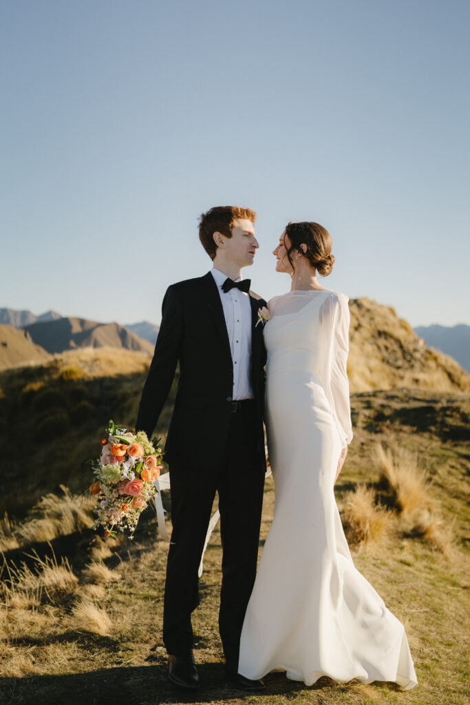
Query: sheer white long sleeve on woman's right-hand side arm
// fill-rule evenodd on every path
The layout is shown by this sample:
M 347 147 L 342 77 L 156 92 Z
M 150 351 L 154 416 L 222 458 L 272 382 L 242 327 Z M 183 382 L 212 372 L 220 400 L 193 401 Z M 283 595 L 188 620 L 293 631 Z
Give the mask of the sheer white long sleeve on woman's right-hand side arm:
M 350 384 L 347 379 L 347 353 L 349 352 L 350 309 L 344 294 L 335 294 L 326 303 L 326 319 L 330 322 L 330 353 L 328 381 L 330 403 L 340 431 L 341 445 L 345 448 L 352 441 Z

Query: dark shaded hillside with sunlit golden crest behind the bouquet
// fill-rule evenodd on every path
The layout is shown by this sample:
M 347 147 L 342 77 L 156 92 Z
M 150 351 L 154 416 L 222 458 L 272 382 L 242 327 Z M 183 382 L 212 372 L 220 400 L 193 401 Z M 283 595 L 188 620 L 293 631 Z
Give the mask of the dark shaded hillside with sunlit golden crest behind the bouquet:
M 111 417 L 133 426 L 149 356 L 130 350 L 71 351 L 49 364 L 0 376 L 0 443 L 19 452 L 1 457 L 0 477 L 22 477 L 0 496 L 0 516 L 23 517 L 47 491 L 87 487 L 88 458 Z M 163 411 L 166 429 L 172 400 Z M 25 462 L 25 459 L 27 461 Z

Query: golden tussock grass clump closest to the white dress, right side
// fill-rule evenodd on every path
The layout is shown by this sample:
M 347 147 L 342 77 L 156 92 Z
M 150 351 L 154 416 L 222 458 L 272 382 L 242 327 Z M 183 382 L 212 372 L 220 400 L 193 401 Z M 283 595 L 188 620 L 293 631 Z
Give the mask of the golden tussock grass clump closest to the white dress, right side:
M 376 544 L 385 536 L 390 517 L 376 505 L 373 489 L 360 484 L 345 495 L 342 522 L 347 539 L 353 544 Z

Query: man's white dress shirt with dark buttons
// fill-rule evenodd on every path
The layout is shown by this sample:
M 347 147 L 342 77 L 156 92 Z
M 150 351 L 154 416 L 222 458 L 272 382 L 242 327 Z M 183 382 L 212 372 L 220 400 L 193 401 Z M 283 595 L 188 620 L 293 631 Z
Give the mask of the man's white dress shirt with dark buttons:
M 211 274 L 221 296 L 225 325 L 227 326 L 230 353 L 233 364 L 233 400 L 252 399 L 253 389 L 250 381 L 252 368 L 252 307 L 249 295 L 240 289 L 222 290 L 226 274 L 215 267 Z M 242 281 L 240 276 L 235 281 Z

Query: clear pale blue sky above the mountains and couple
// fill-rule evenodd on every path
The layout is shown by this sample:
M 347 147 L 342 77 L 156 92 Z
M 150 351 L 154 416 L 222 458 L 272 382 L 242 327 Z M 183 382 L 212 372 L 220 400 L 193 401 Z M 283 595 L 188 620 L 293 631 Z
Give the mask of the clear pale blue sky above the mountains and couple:
M 266 298 L 314 220 L 325 286 L 470 324 L 469 26 L 466 0 L 3 0 L 0 307 L 158 323 L 236 203 Z

